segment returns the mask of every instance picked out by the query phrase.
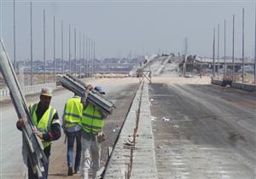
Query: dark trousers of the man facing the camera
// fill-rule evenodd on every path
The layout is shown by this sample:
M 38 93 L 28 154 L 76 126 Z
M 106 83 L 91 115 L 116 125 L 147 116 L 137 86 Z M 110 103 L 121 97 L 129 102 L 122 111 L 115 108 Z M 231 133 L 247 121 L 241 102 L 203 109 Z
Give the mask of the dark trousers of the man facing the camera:
M 44 148 L 44 154 L 47 157 L 48 161 L 46 162 L 46 164 L 44 164 L 43 179 L 47 179 L 48 178 L 50 146 Z M 38 179 L 38 175 L 36 173 L 35 174 L 33 173 L 32 165 L 31 165 L 29 159 L 27 160 L 27 168 L 28 168 L 28 179 Z

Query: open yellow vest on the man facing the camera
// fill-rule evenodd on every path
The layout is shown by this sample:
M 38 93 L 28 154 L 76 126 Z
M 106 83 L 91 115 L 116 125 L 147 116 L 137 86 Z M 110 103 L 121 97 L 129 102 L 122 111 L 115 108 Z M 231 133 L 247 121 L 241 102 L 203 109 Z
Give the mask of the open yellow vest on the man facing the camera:
M 38 117 L 37 117 L 37 109 L 38 109 L 38 103 L 33 104 L 29 107 L 30 109 L 30 114 L 32 116 L 32 123 L 37 127 L 37 129 L 44 134 L 47 134 L 51 128 L 51 122 L 52 118 L 54 117 L 56 110 L 52 108 L 51 106 L 48 107 L 46 112 L 44 112 L 44 115 L 40 118 L 39 123 L 38 123 Z M 51 142 L 50 141 L 44 141 L 42 140 L 43 146 L 48 147 Z

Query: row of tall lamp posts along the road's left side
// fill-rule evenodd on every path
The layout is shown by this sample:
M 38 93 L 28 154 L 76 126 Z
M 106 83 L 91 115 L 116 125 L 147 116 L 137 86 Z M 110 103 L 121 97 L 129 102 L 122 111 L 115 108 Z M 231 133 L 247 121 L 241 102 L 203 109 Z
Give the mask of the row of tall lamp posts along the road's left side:
M 17 71 L 17 61 L 16 61 L 16 34 L 15 34 L 15 0 L 14 0 L 14 68 L 15 68 L 15 72 Z M 54 34 L 54 38 L 53 38 L 53 50 L 54 50 L 54 54 L 53 54 L 53 81 L 55 82 L 55 73 L 56 73 L 56 58 L 55 58 L 55 15 L 53 17 L 53 34 Z M 45 40 L 45 34 L 46 34 L 46 30 L 45 30 L 45 9 L 44 9 L 44 14 L 43 14 L 43 38 L 44 38 L 44 44 L 43 44 L 43 60 L 44 60 L 44 83 L 47 82 L 46 79 L 46 40 Z M 32 34 L 32 2 L 30 2 L 30 84 L 33 84 L 33 34 Z M 77 28 L 74 27 L 74 66 L 73 66 L 73 72 L 74 74 L 78 74 L 78 69 L 77 69 Z M 85 40 L 85 36 L 83 34 L 83 58 L 81 57 L 81 53 L 82 53 L 82 46 L 81 46 L 81 32 L 79 32 L 79 61 L 82 61 L 83 67 L 79 67 L 79 72 L 81 72 L 81 69 L 84 69 L 84 73 L 87 72 L 86 76 L 87 77 L 91 77 L 92 76 L 92 72 L 94 72 L 94 70 L 92 68 L 94 68 L 95 66 L 95 43 L 86 36 L 86 46 L 84 44 L 84 40 Z M 92 49 L 92 46 L 90 47 L 90 41 L 91 44 L 94 44 Z M 86 49 L 86 56 L 84 54 L 84 51 Z M 65 72 L 65 61 L 64 61 L 64 55 L 63 55 L 63 51 L 64 51 L 64 34 L 63 34 L 63 20 L 61 20 L 61 73 L 64 74 Z M 85 58 L 86 57 L 86 58 Z M 86 62 L 85 62 L 86 61 Z M 86 65 L 85 65 L 86 64 Z M 71 25 L 69 24 L 69 31 L 68 31 L 68 70 L 67 72 L 72 73 L 72 55 L 71 55 Z

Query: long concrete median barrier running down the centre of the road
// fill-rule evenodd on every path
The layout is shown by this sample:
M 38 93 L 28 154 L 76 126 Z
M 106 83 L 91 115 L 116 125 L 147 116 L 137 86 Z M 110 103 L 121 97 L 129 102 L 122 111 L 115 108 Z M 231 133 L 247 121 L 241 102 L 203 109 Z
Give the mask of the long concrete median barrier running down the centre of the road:
M 124 145 L 124 141 L 127 141 L 128 137 L 133 135 L 133 130 L 136 127 L 136 111 L 139 107 L 141 91 L 141 88 L 137 91 L 137 95 L 132 102 L 131 110 L 120 132 L 119 140 L 113 148 L 104 176 L 105 179 L 125 178 L 125 172 L 128 170 L 127 164 L 130 163 L 131 149 Z M 133 153 L 131 178 L 156 179 L 158 175 L 155 165 L 154 136 L 150 120 L 148 84 L 145 84 L 143 88 L 142 106 L 139 118 L 138 136 L 135 145 L 136 150 L 134 150 Z

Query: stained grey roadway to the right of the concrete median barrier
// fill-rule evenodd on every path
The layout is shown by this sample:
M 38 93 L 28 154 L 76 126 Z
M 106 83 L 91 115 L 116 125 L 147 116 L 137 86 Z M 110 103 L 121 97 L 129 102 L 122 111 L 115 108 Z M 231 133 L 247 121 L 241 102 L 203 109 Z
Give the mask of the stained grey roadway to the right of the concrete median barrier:
M 256 178 L 255 93 L 166 83 L 149 98 L 159 178 Z

